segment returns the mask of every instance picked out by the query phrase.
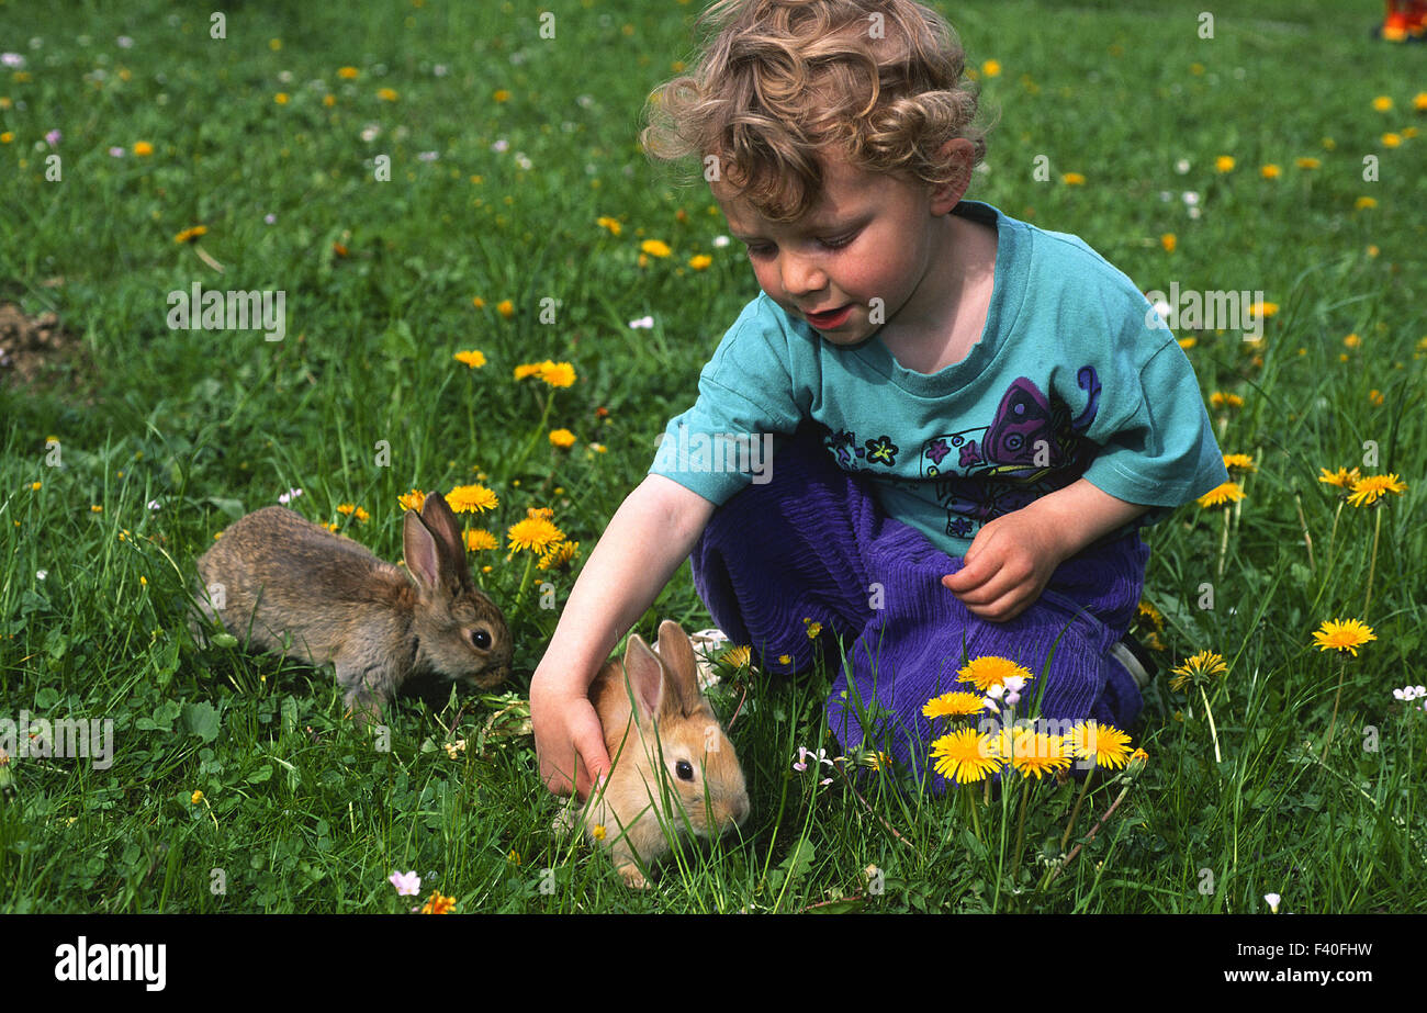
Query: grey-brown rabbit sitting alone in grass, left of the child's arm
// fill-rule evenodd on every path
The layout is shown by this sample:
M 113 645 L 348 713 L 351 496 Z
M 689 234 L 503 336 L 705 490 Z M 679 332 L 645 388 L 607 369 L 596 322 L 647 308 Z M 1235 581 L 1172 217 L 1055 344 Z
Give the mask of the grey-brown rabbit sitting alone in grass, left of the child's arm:
M 411 576 L 284 507 L 248 514 L 198 559 L 198 606 L 261 651 L 335 665 L 362 716 L 411 675 L 494 686 L 509 675 L 511 631 L 471 579 L 455 515 L 432 492 L 404 524 Z

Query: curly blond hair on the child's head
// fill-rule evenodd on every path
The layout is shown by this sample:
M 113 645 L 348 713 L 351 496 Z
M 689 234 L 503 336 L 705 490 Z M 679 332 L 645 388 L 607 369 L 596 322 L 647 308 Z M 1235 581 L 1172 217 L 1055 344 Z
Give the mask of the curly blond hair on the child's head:
M 699 156 L 769 221 L 818 203 L 822 157 L 940 185 L 986 154 L 956 33 L 913 0 L 719 0 L 699 26 L 702 57 L 649 96 L 639 140 L 662 161 Z M 970 166 L 938 156 L 952 138 Z

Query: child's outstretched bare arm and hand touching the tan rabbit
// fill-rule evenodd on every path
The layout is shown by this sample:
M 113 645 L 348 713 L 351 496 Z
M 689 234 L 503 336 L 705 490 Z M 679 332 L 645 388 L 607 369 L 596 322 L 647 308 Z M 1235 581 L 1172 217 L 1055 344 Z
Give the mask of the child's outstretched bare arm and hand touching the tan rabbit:
M 589 683 L 619 638 L 654 604 L 689 555 L 714 504 L 662 475 L 625 497 L 569 592 L 531 678 L 531 725 L 541 780 L 585 798 L 609 769 Z

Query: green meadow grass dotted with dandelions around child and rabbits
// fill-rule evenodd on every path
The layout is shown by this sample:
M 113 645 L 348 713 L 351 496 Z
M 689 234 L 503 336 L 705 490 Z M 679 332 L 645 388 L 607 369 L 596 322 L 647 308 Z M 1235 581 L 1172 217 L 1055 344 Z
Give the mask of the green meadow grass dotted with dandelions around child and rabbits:
M 398 869 L 459 912 L 1237 913 L 1270 892 L 1294 912 L 1427 910 L 1427 715 L 1391 693 L 1424 668 L 1420 49 L 1370 40 L 1371 4 L 1224 10 L 1212 39 L 1173 3 L 939 6 L 996 117 L 970 197 L 1080 235 L 1146 291 L 1277 305 L 1260 342 L 1179 330 L 1206 399 L 1241 398 L 1212 415 L 1254 468 L 1241 502 L 1144 532 L 1162 626 L 1140 632 L 1162 671 L 1132 731 L 1149 760 L 1133 783 L 1097 775 L 1067 847 L 1075 783 L 982 805 L 793 770 L 799 748 L 838 752 L 833 673 L 726 666 L 712 699 L 739 712 L 741 836 L 631 893 L 551 833 L 521 723 L 558 615 L 542 605 L 756 294 L 706 188 L 636 143 L 696 4 L 250 3 L 213 39 L 207 11 L 156 0 L 63 23 L 11 0 L 0 295 L 77 341 L 0 392 L 0 719 L 110 718 L 114 755 L 11 758 L 0 910 L 387 912 L 421 900 L 395 896 Z M 288 332 L 170 330 L 167 294 L 195 281 L 283 290 Z M 542 360 L 578 380 L 512 380 Z M 1344 507 L 1320 469 L 1353 467 L 1407 491 Z M 295 509 L 397 559 L 398 495 L 477 481 L 499 498 L 471 525 L 501 548 L 471 558 L 515 636 L 508 692 L 404 698 L 378 750 L 330 671 L 188 635 L 193 561 L 244 512 L 300 488 Z M 581 544 L 572 568 L 509 556 L 529 508 Z M 686 566 L 638 629 L 661 618 L 711 625 Z M 1320 651 L 1337 618 L 1377 639 Z M 1200 651 L 1227 673 L 1170 689 Z

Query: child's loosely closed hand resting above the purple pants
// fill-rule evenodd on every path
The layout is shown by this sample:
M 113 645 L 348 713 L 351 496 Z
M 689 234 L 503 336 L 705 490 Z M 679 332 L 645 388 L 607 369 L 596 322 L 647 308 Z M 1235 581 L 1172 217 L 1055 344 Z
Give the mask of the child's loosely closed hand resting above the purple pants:
M 1033 605 L 1067 552 L 1036 511 L 1003 514 L 976 532 L 965 566 L 942 578 L 972 615 L 1009 622 Z

